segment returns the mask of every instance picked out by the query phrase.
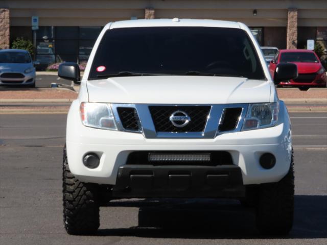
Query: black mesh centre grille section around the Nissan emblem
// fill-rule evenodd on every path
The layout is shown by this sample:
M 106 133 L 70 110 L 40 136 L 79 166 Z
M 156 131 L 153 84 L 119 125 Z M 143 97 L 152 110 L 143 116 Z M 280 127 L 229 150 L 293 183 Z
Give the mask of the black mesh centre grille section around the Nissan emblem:
M 210 106 L 149 106 L 156 132 L 203 132 Z M 183 111 L 191 118 L 184 127 L 175 127 L 170 116 Z

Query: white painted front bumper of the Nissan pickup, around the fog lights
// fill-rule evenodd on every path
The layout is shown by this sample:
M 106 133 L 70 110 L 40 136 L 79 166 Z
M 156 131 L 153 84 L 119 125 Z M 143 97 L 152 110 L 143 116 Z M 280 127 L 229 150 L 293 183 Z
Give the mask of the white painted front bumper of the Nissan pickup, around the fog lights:
M 116 185 L 121 166 L 135 151 L 226 151 L 233 165 L 240 168 L 244 185 L 277 182 L 288 172 L 291 162 L 291 130 L 288 112 L 280 102 L 275 127 L 225 133 L 214 139 L 149 139 L 142 134 L 84 127 L 79 115 L 79 102 L 74 101 L 67 118 L 67 157 L 69 168 L 81 181 Z M 87 153 L 96 153 L 100 165 L 95 169 L 83 165 Z M 264 169 L 259 158 L 272 153 L 276 164 Z

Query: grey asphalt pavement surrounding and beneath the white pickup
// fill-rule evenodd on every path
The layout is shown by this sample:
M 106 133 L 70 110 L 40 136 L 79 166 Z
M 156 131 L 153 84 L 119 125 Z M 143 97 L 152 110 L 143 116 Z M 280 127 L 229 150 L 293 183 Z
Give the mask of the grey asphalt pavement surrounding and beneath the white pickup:
M 81 237 L 62 224 L 66 114 L 0 114 L 0 244 L 327 244 L 327 113 L 290 115 L 296 197 L 289 236 L 260 236 L 253 210 L 237 201 L 134 199 L 102 207 L 98 235 Z

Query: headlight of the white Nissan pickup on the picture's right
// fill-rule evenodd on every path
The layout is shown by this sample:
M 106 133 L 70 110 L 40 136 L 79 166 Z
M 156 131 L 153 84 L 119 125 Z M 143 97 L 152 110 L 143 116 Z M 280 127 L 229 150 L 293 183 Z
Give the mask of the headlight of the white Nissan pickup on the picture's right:
M 278 121 L 278 103 L 249 104 L 242 130 L 273 127 Z

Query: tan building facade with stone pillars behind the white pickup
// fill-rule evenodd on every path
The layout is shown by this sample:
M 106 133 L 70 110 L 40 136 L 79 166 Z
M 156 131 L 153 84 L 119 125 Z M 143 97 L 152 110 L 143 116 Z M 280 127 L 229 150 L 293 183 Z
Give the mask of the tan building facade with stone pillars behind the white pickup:
M 326 0 L 0 0 L 0 48 L 17 37 L 33 40 L 44 64 L 83 62 L 106 23 L 141 18 L 198 18 L 247 24 L 262 46 L 327 49 Z

